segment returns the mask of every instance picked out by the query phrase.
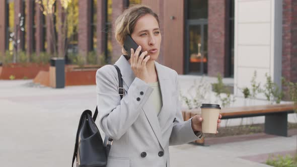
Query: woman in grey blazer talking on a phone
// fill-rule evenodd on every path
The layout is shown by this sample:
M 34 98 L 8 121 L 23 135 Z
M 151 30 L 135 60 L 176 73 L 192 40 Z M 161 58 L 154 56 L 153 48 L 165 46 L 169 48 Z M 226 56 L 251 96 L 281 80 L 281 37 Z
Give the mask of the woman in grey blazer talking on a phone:
M 170 166 L 168 146 L 200 139 L 202 118 L 183 121 L 178 74 L 156 61 L 161 44 L 158 16 L 136 5 L 125 10 L 115 25 L 121 46 L 130 35 L 139 47 L 131 49 L 131 55 L 122 49 L 115 63 L 123 78 L 122 100 L 115 67 L 106 65 L 96 74 L 100 127 L 113 139 L 107 166 Z M 220 119 L 217 122 L 219 127 Z

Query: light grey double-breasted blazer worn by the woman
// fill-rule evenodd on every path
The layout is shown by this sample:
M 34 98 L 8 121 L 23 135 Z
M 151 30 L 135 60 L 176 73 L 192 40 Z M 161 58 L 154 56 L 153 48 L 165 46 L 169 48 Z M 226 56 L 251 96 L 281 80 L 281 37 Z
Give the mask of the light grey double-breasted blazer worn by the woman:
M 148 84 L 134 76 L 122 55 L 115 63 L 121 70 L 125 95 L 118 95 L 118 75 L 114 66 L 105 65 L 96 73 L 99 124 L 113 139 L 108 167 L 170 166 L 169 145 L 200 139 L 191 119 L 183 121 L 177 72 L 155 62 L 163 107 L 160 114 L 146 103 L 153 92 Z

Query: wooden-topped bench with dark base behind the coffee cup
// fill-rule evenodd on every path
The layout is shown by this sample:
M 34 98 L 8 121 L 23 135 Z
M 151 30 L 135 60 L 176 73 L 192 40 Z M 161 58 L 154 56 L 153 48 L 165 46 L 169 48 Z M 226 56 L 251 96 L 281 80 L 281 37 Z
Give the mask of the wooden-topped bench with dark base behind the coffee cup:
M 265 133 L 287 136 L 287 117 L 289 113 L 294 113 L 296 106 L 293 104 L 276 104 L 276 105 L 262 105 L 262 106 L 247 106 L 247 107 L 233 107 L 233 108 L 222 108 L 220 114 L 221 119 L 231 118 L 245 118 L 245 117 L 256 117 L 265 116 Z M 187 110 L 183 111 L 184 120 L 188 120 L 196 114 L 200 114 L 201 110 Z M 203 143 L 197 140 L 196 143 Z

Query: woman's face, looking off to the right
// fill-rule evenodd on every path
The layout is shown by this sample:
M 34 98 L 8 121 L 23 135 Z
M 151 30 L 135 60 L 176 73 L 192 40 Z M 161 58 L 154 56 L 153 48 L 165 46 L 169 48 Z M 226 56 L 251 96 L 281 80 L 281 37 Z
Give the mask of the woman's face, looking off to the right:
M 157 60 L 160 53 L 161 32 L 154 16 L 146 14 L 140 17 L 131 34 L 133 40 L 141 46 L 141 51 L 147 51 L 150 60 Z

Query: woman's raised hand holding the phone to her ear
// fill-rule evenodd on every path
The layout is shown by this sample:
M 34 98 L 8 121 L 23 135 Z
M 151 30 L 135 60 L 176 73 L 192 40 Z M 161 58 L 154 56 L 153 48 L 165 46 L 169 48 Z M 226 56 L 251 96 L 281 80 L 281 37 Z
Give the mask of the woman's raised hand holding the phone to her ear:
M 141 46 L 139 45 L 138 48 L 134 50 L 131 48 L 131 68 L 134 72 L 134 75 L 138 77 L 139 79 L 148 82 L 148 72 L 146 68 L 146 63 L 150 59 L 150 56 L 145 56 L 147 54 L 147 51 L 142 52 L 139 55 L 139 52 L 141 51 Z M 145 57 L 144 57 L 145 56 Z

